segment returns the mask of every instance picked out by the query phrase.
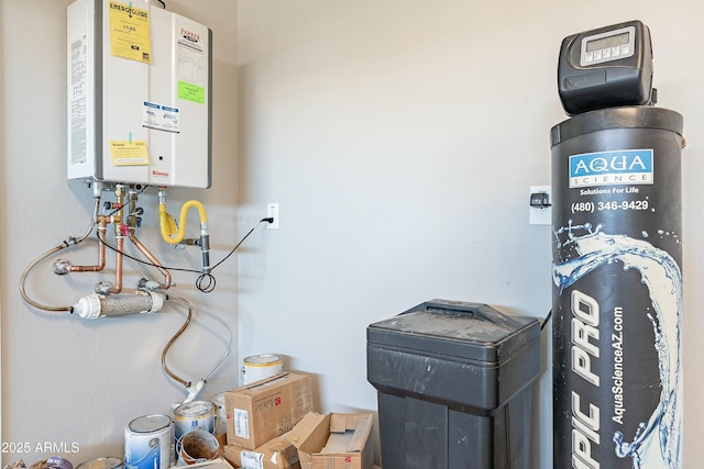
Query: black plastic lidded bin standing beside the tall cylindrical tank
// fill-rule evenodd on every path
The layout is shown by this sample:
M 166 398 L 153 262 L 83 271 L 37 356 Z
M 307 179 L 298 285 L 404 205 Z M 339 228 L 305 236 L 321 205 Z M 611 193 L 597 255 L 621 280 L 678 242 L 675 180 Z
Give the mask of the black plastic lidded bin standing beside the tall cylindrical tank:
M 527 469 L 540 322 L 432 300 L 366 330 L 383 469 Z

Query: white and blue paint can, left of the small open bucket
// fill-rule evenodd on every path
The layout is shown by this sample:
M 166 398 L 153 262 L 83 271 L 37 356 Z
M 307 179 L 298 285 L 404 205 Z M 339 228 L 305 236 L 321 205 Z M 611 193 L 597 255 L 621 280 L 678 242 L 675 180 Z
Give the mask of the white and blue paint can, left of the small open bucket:
M 124 427 L 127 469 L 168 469 L 174 454 L 174 424 L 168 415 L 144 415 Z

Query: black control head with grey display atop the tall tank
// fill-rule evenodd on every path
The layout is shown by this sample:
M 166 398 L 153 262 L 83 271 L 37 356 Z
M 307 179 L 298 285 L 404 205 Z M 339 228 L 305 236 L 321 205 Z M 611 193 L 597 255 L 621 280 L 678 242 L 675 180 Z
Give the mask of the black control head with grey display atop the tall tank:
M 650 31 L 629 21 L 562 41 L 558 90 L 570 114 L 653 101 Z

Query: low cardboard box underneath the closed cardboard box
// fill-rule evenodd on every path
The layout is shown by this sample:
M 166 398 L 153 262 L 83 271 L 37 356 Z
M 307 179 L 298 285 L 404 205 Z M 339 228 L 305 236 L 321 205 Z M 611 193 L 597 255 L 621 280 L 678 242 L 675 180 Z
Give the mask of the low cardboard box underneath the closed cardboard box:
M 224 458 L 243 469 L 300 469 L 298 450 L 285 436 L 274 438 L 256 449 L 227 445 Z

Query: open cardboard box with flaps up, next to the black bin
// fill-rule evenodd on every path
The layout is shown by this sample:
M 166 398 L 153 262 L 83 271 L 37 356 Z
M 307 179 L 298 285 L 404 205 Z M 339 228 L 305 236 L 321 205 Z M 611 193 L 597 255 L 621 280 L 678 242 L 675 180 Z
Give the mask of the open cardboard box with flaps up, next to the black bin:
M 302 469 L 372 469 L 372 414 L 309 413 L 286 435 Z

